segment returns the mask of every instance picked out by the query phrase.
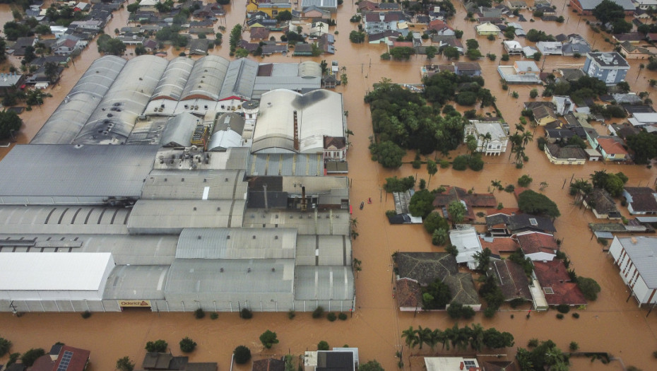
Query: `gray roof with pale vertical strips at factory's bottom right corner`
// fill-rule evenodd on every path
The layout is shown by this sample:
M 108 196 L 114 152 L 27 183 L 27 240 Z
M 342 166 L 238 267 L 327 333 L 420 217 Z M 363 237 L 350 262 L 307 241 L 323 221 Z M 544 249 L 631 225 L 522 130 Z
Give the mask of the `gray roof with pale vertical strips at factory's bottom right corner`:
M 295 300 L 351 300 L 354 275 L 351 266 L 297 266 Z

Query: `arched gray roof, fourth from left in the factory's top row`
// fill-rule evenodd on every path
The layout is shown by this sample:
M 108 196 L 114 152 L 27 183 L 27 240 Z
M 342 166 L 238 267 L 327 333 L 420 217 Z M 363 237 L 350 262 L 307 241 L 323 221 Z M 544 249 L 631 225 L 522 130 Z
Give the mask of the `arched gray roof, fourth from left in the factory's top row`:
M 219 90 L 228 71 L 229 61 L 216 55 L 208 55 L 196 61 L 180 100 L 219 100 Z

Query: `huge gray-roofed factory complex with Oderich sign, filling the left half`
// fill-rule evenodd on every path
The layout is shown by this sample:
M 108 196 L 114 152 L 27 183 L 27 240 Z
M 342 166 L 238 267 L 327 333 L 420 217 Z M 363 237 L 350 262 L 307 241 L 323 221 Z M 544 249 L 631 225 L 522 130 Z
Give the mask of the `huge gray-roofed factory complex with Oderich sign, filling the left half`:
M 95 61 L 0 162 L 0 311 L 353 310 L 348 181 L 322 147 L 342 97 L 315 64 Z M 312 153 L 252 153 L 278 136 L 269 90 L 300 102 Z

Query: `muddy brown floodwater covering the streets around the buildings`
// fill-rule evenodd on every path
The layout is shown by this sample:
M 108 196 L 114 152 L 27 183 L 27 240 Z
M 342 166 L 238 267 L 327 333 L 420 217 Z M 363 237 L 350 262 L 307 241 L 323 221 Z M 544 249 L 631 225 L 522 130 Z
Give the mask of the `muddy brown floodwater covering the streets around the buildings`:
M 596 48 L 608 50 L 611 45 L 605 45 L 604 35 L 591 32 L 586 25 L 586 18 L 580 20 L 579 16 L 569 12 L 564 6 L 565 0 L 557 0 L 553 4 L 563 11 L 567 21 L 558 23 L 525 23 L 526 30 L 537 28 L 548 33 L 580 33 L 584 35 Z M 213 50 L 213 54 L 228 57 L 228 33 L 236 23 L 242 23 L 244 17 L 245 0 L 237 0 L 230 8 L 227 18 L 220 22 L 225 25 L 227 32 L 224 35 L 224 47 Z M 463 20 L 463 8 L 457 4 L 460 12 L 451 24 L 465 31 L 463 40 L 475 37 L 474 25 Z M 0 8 L 1 9 L 1 8 Z M 235 313 L 220 313 L 215 321 L 211 319 L 196 320 L 191 313 L 150 313 L 125 312 L 122 314 L 93 314 L 90 319 L 82 319 L 79 314 L 33 314 L 28 313 L 17 318 L 11 314 L 0 314 L 0 335 L 13 341 L 12 351 L 24 352 L 32 347 L 47 348 L 55 341 L 63 341 L 71 346 L 80 346 L 92 351 L 91 370 L 112 370 L 117 358 L 129 355 L 137 363 L 141 363 L 144 355 L 143 346 L 146 341 L 163 338 L 170 343 L 172 352 L 179 354 L 177 342 L 184 336 L 193 338 L 199 343 L 198 349 L 191 354 L 192 361 L 214 361 L 219 363 L 221 370 L 230 367 L 230 354 L 235 346 L 244 344 L 251 348 L 254 358 L 280 356 L 285 353 L 295 355 L 303 351 L 316 349 L 316 343 L 321 340 L 328 341 L 331 346 L 356 346 L 360 348 L 360 360 L 363 362 L 376 358 L 386 370 L 397 367 L 395 352 L 403 349 L 403 360 L 406 370 L 422 370 L 422 360 L 413 355 L 430 355 L 429 349 L 412 352 L 403 348 L 400 337 L 403 329 L 408 326 L 425 326 L 444 329 L 452 326 L 454 322 L 442 313 L 400 313 L 396 310 L 393 298 L 393 272 L 391 254 L 396 251 L 431 252 L 442 251 L 442 248 L 433 247 L 430 237 L 421 225 L 389 225 L 384 216 L 386 210 L 392 209 L 391 196 L 380 191 L 381 184 L 386 177 L 413 175 L 428 179 L 423 167 L 415 170 L 410 165 L 403 165 L 398 170 L 384 170 L 377 163 L 370 160 L 367 145 L 369 136 L 372 136 L 372 126 L 369 109 L 362 102 L 362 97 L 373 83 L 381 78 L 391 78 L 396 83 L 420 82 L 419 67 L 425 64 L 424 57 L 412 57 L 410 61 L 381 61 L 379 55 L 386 51 L 379 45 L 353 45 L 348 40 L 350 30 L 355 25 L 348 19 L 355 13 L 355 5 L 345 1 L 338 13 L 339 35 L 336 36 L 335 57 L 304 57 L 302 60 L 321 59 L 338 60 L 340 66 L 346 67 L 348 85 L 338 87 L 336 91 L 345 96 L 345 110 L 349 111 L 349 128 L 354 132 L 350 141 L 353 146 L 348 153 L 350 166 L 349 177 L 352 180 L 351 197 L 353 204 L 372 197 L 372 204 L 365 208 L 355 210 L 354 217 L 358 220 L 357 230 L 360 236 L 354 242 L 353 254 L 362 261 L 362 271 L 356 278 L 356 306 L 357 310 L 347 321 L 328 322 L 326 319 L 314 320 L 308 313 L 297 313 L 295 319 L 288 319 L 285 313 L 256 313 L 248 321 L 239 319 Z M 523 12 L 530 18 L 528 11 Z M 117 13 L 106 28 L 107 33 L 113 33 L 114 28 L 125 25 L 127 15 Z M 588 18 L 591 19 L 591 18 Z M 333 28 L 332 28 L 333 29 Z M 278 38 L 279 35 L 276 35 Z M 486 78 L 486 88 L 489 88 L 497 97 L 497 106 L 507 122 L 513 127 L 520 116 L 521 105 L 529 100 L 529 91 L 533 86 L 511 86 L 509 92 L 502 90 L 497 74 L 497 64 L 502 55 L 501 40 L 486 40 L 477 37 L 483 54 L 491 52 L 497 54 L 497 61 L 481 60 L 483 75 Z M 525 45 L 531 44 L 521 42 Z M 177 56 L 177 51 L 170 50 L 168 58 Z M 49 90 L 54 98 L 46 100 L 42 107 L 35 107 L 32 112 L 25 112 L 23 120 L 25 128 L 18 137 L 18 142 L 26 143 L 40 129 L 45 119 L 57 107 L 61 98 L 68 93 L 89 64 L 98 57 L 95 43 L 91 43 L 83 55 L 76 59 L 76 64 L 66 69 L 61 85 Z M 128 56 L 130 57 L 130 56 Z M 513 60 L 520 57 L 512 57 Z M 300 58 L 274 56 L 258 58 L 262 61 L 300 61 Z M 433 63 L 445 63 L 438 56 Z M 627 81 L 635 91 L 647 90 L 649 78 L 657 78 L 657 74 L 644 70 L 638 76 L 640 61 L 632 60 L 632 69 L 629 71 Z M 543 64 L 540 61 L 539 66 Z M 545 70 L 552 71 L 560 67 L 584 64 L 584 59 L 564 57 L 548 57 L 545 59 Z M 637 78 L 638 77 L 638 78 Z M 511 98 L 509 93 L 516 90 L 519 99 Z M 461 107 L 459 107 L 461 108 Z M 488 110 L 490 111 L 490 109 Z M 483 111 L 485 112 L 485 111 Z M 604 126 L 597 129 L 604 132 Z M 535 131 L 535 137 L 543 135 L 543 129 Z M 461 150 L 462 151 L 462 150 Z M 458 152 L 458 151 L 457 151 Z M 548 182 L 549 186 L 543 192 L 554 200 L 560 208 L 562 216 L 557 218 L 557 237 L 563 240 L 562 249 L 572 260 L 572 266 L 580 276 L 595 278 L 602 292 L 596 302 L 581 310 L 579 319 L 570 315 L 559 320 L 555 318 L 556 312 L 551 310 L 543 313 L 532 313 L 526 319 L 526 310 L 503 311 L 493 319 L 485 319 L 477 314 L 473 322 L 480 322 L 485 328 L 495 327 L 500 331 L 509 331 L 516 338 L 516 346 L 525 346 L 530 338 L 542 340 L 552 339 L 560 348 L 567 350 L 570 341 L 579 343 L 581 351 L 609 352 L 621 358 L 627 365 L 636 365 L 644 370 L 654 369 L 656 360 L 651 353 L 657 350 L 657 314 L 646 317 L 647 310 L 639 309 L 633 299 L 629 299 L 629 292 L 618 276 L 617 269 L 607 254 L 601 251 L 601 246 L 591 238 L 587 223 L 594 222 L 592 214 L 579 206 L 572 204 L 568 196 L 567 186 L 564 182 L 573 177 L 587 178 L 596 170 L 609 172 L 625 172 L 629 176 L 629 185 L 654 184 L 656 172 L 643 166 L 605 165 L 603 163 L 588 163 L 579 166 L 557 166 L 548 163 L 545 155 L 538 151 L 532 143 L 526 153 L 530 160 L 522 170 L 518 170 L 509 162 L 508 155 L 487 157 L 482 172 L 458 172 L 451 169 L 439 169 L 431 179 L 431 187 L 439 184 L 451 184 L 464 188 L 474 187 L 475 192 L 486 192 L 491 180 L 502 180 L 503 184 L 515 184 L 516 179 L 523 174 L 533 177 L 531 188 L 538 190 L 540 182 Z M 453 158 L 458 153 L 452 153 Z M 408 153 L 407 160 L 413 159 L 414 153 Z M 377 194 L 379 192 L 379 194 Z M 495 192 L 498 201 L 504 206 L 514 207 L 516 201 L 511 194 Z M 621 208 L 622 209 L 622 208 Z M 511 314 L 515 318 L 511 317 Z M 463 326 L 461 322 L 461 326 Z M 258 340 L 259 334 L 266 329 L 278 334 L 280 343 L 271 350 L 263 350 Z M 500 353 L 509 356 L 515 354 L 515 349 L 507 349 Z M 433 354 L 451 354 L 454 351 L 437 351 Z M 590 363 L 587 359 L 574 360 L 572 370 L 621 370 L 619 362 L 603 367 L 601 363 Z M 238 370 L 248 370 L 242 367 Z

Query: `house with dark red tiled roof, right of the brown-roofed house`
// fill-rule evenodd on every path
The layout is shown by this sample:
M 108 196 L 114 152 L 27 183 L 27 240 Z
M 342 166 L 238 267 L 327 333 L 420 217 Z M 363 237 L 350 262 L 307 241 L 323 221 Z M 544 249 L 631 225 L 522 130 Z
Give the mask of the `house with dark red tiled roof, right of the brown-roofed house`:
M 535 281 L 543 289 L 548 305 L 586 305 L 586 298 L 576 283 L 570 281 L 568 269 L 561 259 L 534 261 Z

